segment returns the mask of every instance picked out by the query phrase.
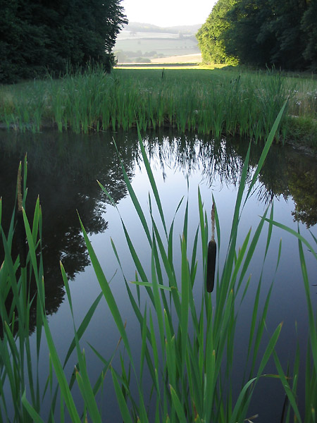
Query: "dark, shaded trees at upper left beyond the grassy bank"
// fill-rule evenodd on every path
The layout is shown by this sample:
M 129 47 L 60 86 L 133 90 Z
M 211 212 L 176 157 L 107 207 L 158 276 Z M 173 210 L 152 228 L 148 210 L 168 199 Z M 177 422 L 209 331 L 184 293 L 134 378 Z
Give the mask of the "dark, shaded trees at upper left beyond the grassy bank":
M 88 61 L 111 68 L 127 23 L 121 0 L 0 0 L 0 82 L 65 73 Z

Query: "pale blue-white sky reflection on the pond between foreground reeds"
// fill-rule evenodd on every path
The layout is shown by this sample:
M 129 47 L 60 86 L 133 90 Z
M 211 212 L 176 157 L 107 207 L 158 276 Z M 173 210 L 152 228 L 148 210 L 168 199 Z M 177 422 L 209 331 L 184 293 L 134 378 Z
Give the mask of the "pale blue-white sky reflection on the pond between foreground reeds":
M 151 144 L 151 142 L 149 142 Z M 94 144 L 96 147 L 96 144 Z M 97 148 L 97 147 L 96 147 Z M 185 202 L 187 200 L 187 195 L 189 199 L 189 252 L 192 247 L 191 240 L 194 238 L 194 233 L 199 224 L 198 216 L 198 200 L 197 200 L 197 188 L 199 186 L 201 191 L 201 197 L 204 202 L 204 208 L 208 216 L 210 216 L 211 211 L 211 195 L 215 197 L 216 207 L 218 209 L 218 215 L 220 219 L 220 231 L 221 231 L 221 245 L 220 251 L 218 251 L 219 257 L 219 268 L 220 271 L 223 266 L 225 259 L 225 253 L 228 247 L 228 238 L 230 234 L 232 215 L 235 207 L 235 197 L 237 195 L 237 188 L 233 185 L 228 184 L 231 174 L 227 176 L 216 176 L 214 180 L 211 180 L 211 175 L 209 175 L 208 166 L 203 166 L 204 157 L 209 157 L 206 154 L 204 149 L 201 149 L 199 156 L 199 150 L 196 146 L 194 152 L 197 157 L 197 161 L 190 162 L 187 160 L 187 150 L 189 146 L 185 144 L 185 152 L 183 157 L 181 154 L 170 154 L 170 150 L 166 147 L 166 144 L 163 143 L 161 152 L 163 157 L 168 159 L 167 164 L 165 164 L 163 170 L 161 168 L 161 162 L 156 156 L 156 147 L 154 145 L 153 151 L 154 156 L 151 158 L 151 166 L 154 171 L 154 177 L 159 189 L 161 202 L 163 204 L 164 212 L 166 213 L 166 223 L 169 228 L 170 223 L 175 214 L 176 207 L 180 202 L 182 196 L 185 197 L 182 207 L 178 212 L 178 216 L 175 219 L 174 227 L 174 261 L 175 268 L 178 273 L 180 273 L 180 255 L 179 255 L 179 235 L 182 233 L 182 221 L 185 212 Z M 96 150 L 97 151 L 97 150 Z M 176 150 L 175 150 L 176 151 Z M 207 151 L 207 150 L 206 150 Z M 81 157 L 83 154 L 81 154 Z M 234 155 L 235 157 L 235 155 Z M 107 158 L 107 157 L 106 157 Z M 237 159 L 231 159 L 232 168 L 237 170 L 237 178 L 239 178 L 239 166 L 240 161 Z M 175 166 L 175 163 L 177 165 Z M 218 166 L 218 164 L 217 164 Z M 98 167 L 98 166 L 96 166 Z M 175 167 L 177 171 L 175 171 Z M 120 169 L 119 169 L 120 170 Z M 131 169 L 130 169 L 131 171 Z M 189 190 L 187 190 L 187 180 L 186 176 L 189 172 Z M 144 165 L 135 166 L 135 171 L 131 171 L 132 177 L 132 186 L 135 189 L 136 195 L 139 199 L 139 202 L 144 210 L 144 214 L 149 219 L 149 199 L 148 193 L 150 190 L 149 181 L 147 174 L 144 172 Z M 204 173 L 204 174 L 202 174 Z M 232 174 L 235 173 L 234 171 Z M 118 173 L 116 173 L 118 175 Z M 98 174 L 98 178 L 102 178 L 103 173 Z M 104 176 L 106 178 L 106 176 Z M 225 180 L 223 180 L 225 179 Z M 101 183 L 105 183 L 104 180 L 100 180 Z M 79 183 L 80 188 L 82 188 L 82 181 Z M 79 189 L 80 189 L 79 188 Z M 102 197 L 102 196 L 101 196 Z M 97 196 L 98 200 L 102 198 Z M 104 196 L 106 199 L 106 197 Z M 158 218 L 158 212 L 154 204 L 154 196 L 151 193 L 151 204 L 154 209 L 154 216 Z M 77 204 L 76 204 L 77 205 Z M 75 206 L 74 206 L 75 207 Z M 139 223 L 137 214 L 132 207 L 130 197 L 123 197 L 118 202 L 118 209 L 120 215 L 125 222 L 132 243 L 135 245 L 135 249 L 139 255 L 139 258 L 144 265 L 144 270 L 149 274 L 150 264 L 151 264 L 151 253 L 149 251 L 147 238 L 144 235 L 142 230 L 142 225 Z M 249 228 L 252 228 L 251 237 L 256 230 L 256 226 L 259 224 L 259 216 L 263 215 L 266 206 L 259 202 L 258 196 L 253 195 L 249 198 L 244 211 L 242 213 L 242 219 L 240 221 L 240 229 L 238 233 L 237 246 L 242 245 Z M 288 202 L 282 199 L 275 200 L 274 202 L 274 219 L 281 223 L 284 223 L 287 226 L 290 226 L 294 230 L 297 230 L 297 223 L 294 223 L 291 212 L 294 210 L 294 203 L 289 198 Z M 45 209 L 44 209 L 44 213 Z M 75 214 L 75 211 L 74 211 Z M 116 257 L 113 253 L 111 247 L 111 238 L 116 245 L 118 255 L 120 257 L 121 264 L 125 271 L 125 275 L 128 278 L 128 281 L 131 281 L 135 278 L 135 265 L 130 258 L 130 253 L 128 252 L 127 243 L 125 241 L 125 236 L 123 233 L 123 228 L 120 223 L 120 217 L 118 216 L 118 211 L 111 207 L 109 204 L 106 204 L 106 212 L 103 212 L 104 220 L 108 222 L 108 228 L 104 233 L 96 233 L 90 237 L 92 240 L 92 245 L 95 248 L 97 257 L 101 262 L 101 266 L 104 269 L 104 273 L 108 281 L 111 280 L 111 289 L 113 295 L 115 295 L 116 300 L 120 308 L 120 313 L 122 315 L 123 321 L 127 321 L 127 332 L 132 340 L 132 348 L 137 356 L 139 351 L 137 350 L 139 345 L 139 324 L 137 323 L 134 313 L 132 312 L 128 295 L 125 290 L 125 284 L 123 277 L 120 273 L 120 268 L 116 261 Z M 83 223 L 89 219 L 89 214 L 83 216 Z M 84 219 L 85 218 L 85 219 Z M 311 235 L 309 231 L 306 230 L 306 227 L 299 224 L 302 235 L 311 241 Z M 266 243 L 266 236 L 268 231 L 268 224 L 264 224 L 263 232 L 259 240 L 259 245 L 254 253 L 254 257 L 251 261 L 251 265 L 247 271 L 247 276 L 252 274 L 251 283 L 249 286 L 248 293 L 242 306 L 240 307 L 239 319 L 237 322 L 237 348 L 235 351 L 235 364 L 237 368 L 237 374 L 235 376 L 237 379 L 241 374 L 238 369 L 244 368 L 245 360 L 245 350 L 247 348 L 248 342 L 248 331 L 250 321 L 250 312 L 253 307 L 254 294 L 259 283 L 259 276 L 261 274 L 261 266 L 263 262 L 263 255 Z M 311 231 L 315 236 L 316 226 L 311 228 Z M 301 348 L 305 349 L 306 345 L 306 336 L 307 336 L 307 321 L 306 321 L 306 300 L 304 296 L 304 286 L 302 283 L 302 275 L 299 267 L 298 259 L 298 245 L 297 240 L 293 238 L 290 234 L 285 231 L 280 230 L 279 228 L 273 228 L 273 235 L 271 239 L 271 247 L 268 252 L 266 259 L 266 266 L 263 271 L 263 296 L 261 297 L 260 307 L 263 306 L 265 301 L 265 295 L 268 292 L 268 288 L 271 285 L 273 276 L 275 273 L 275 266 L 278 259 L 278 245 L 280 243 L 280 238 L 282 238 L 282 255 L 280 259 L 280 266 L 278 268 L 277 274 L 275 276 L 275 283 L 273 287 L 273 294 L 268 309 L 268 318 L 267 318 L 267 327 L 268 333 L 273 333 L 273 330 L 276 326 L 283 321 L 282 334 L 280 337 L 280 342 L 278 343 L 278 353 L 281 357 L 284 357 L 284 361 L 287 359 L 292 359 L 294 355 L 294 349 L 296 345 L 295 329 L 294 322 L 297 321 L 299 341 L 301 343 Z M 312 242 L 311 242 L 312 243 Z M 218 246 L 219 247 L 219 246 Z M 309 259 L 311 256 L 307 252 L 306 247 L 304 247 L 306 252 L 306 257 Z M 202 280 L 202 270 L 201 270 L 201 249 L 198 247 L 197 258 L 199 260 L 199 265 L 197 269 L 197 280 L 195 288 L 195 299 L 197 304 L 200 303 L 201 290 L 204 289 L 204 281 Z M 45 264 L 45 263 L 44 263 Z M 316 274 L 316 261 L 307 260 L 307 266 L 309 270 L 309 275 L 311 276 L 311 284 L 317 283 L 316 279 L 313 279 Z M 66 269 L 67 270 L 67 269 Z M 113 276 L 114 275 L 114 276 Z M 92 269 L 92 266 L 87 266 L 84 272 L 76 274 L 73 281 L 70 281 L 70 288 L 73 296 L 73 307 L 75 312 L 75 321 L 77 327 L 82 321 L 85 313 L 89 309 L 92 302 L 100 292 L 99 284 L 96 280 L 96 276 Z M 135 287 L 131 286 L 132 292 L 135 293 Z M 316 295 L 317 287 L 311 287 L 311 298 L 313 300 L 313 307 L 316 308 Z M 215 298 L 215 295 L 212 295 L 212 298 Z M 237 311 L 239 307 L 237 305 Z M 49 317 L 49 323 L 51 331 L 53 332 L 54 341 L 56 341 L 56 347 L 58 353 L 61 356 L 61 360 L 66 356 L 68 346 L 70 341 L 73 338 L 73 324 L 70 317 L 70 310 L 67 300 L 63 302 L 61 307 L 58 309 L 58 312 Z M 35 342 L 35 337 L 34 342 Z M 96 364 L 96 359 L 94 353 L 89 349 L 87 342 L 91 343 L 97 350 L 106 357 L 106 359 L 111 357 L 113 350 L 116 348 L 118 342 L 118 331 L 116 325 L 113 323 L 113 317 L 108 311 L 106 301 L 101 300 L 92 324 L 89 326 L 89 331 L 85 333 L 82 338 L 82 347 L 85 348 L 85 353 L 87 355 L 87 362 L 89 362 L 89 371 L 92 374 L 92 379 L 99 375 L 101 370 L 101 364 L 99 365 L 98 361 Z M 305 356 L 304 349 L 302 352 L 302 357 Z M 42 362 L 47 364 L 47 350 L 45 343 L 42 346 Z M 118 356 L 117 356 L 118 358 Z M 118 360 L 113 362 L 113 364 L 118 364 Z M 75 360 L 75 359 L 74 359 Z M 283 360 L 283 359 L 282 359 Z M 74 362 L 70 360 L 68 366 L 69 374 L 73 371 Z M 271 372 L 275 372 L 274 367 L 270 369 Z M 46 377 L 46 372 L 43 372 Z M 45 383 L 45 381 L 44 381 Z M 254 402 L 253 408 L 250 410 L 250 415 L 256 414 L 259 412 L 260 417 L 256 421 L 261 422 L 275 422 L 279 421 L 280 412 L 282 409 L 282 396 L 280 392 L 280 384 L 270 384 L 270 381 L 261 382 L 263 384 L 263 389 L 265 391 L 259 391 L 259 397 L 263 396 L 265 393 L 265 401 L 262 406 L 259 405 L 261 398 L 256 398 L 257 402 Z M 108 393 L 108 385 L 112 386 L 110 378 L 106 377 L 106 391 Z M 275 389 L 271 386 L 276 387 Z M 299 392 L 301 390 L 299 389 Z M 262 392 L 262 393 L 261 393 Z M 278 400 L 275 400 L 276 398 Z M 281 399 L 280 399 L 281 398 Z M 113 407 L 113 397 L 111 394 L 103 397 L 104 409 L 107 410 L 108 420 L 107 421 L 120 421 L 118 415 L 116 415 L 116 407 Z M 273 407 L 273 404 L 277 403 L 276 407 Z M 269 407 L 268 407 L 269 404 Z M 111 411 L 109 411 L 111 410 Z M 111 412 L 113 415 L 111 415 Z M 278 417 L 276 417 L 278 416 Z

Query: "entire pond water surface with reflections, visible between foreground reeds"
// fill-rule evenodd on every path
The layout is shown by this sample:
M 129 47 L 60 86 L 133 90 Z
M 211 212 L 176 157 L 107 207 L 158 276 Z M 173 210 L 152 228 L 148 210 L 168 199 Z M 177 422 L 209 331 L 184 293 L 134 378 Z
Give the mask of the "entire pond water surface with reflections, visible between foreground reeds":
M 16 175 L 19 161 L 27 152 L 27 212 L 31 216 L 37 195 L 42 204 L 43 214 L 43 260 L 45 271 L 46 309 L 51 314 L 49 324 L 56 341 L 58 353 L 65 357 L 73 338 L 73 322 L 61 278 L 59 261 L 63 262 L 70 279 L 73 296 L 75 319 L 80 324 L 85 313 L 100 292 L 94 275 L 85 242 L 77 218 L 78 210 L 82 222 L 89 233 L 92 245 L 99 257 L 104 273 L 111 280 L 113 294 L 118 300 L 123 320 L 127 321 L 127 332 L 135 354 L 139 355 L 139 324 L 125 290 L 123 276 L 111 247 L 111 239 L 116 245 L 118 255 L 128 280 L 135 279 L 135 266 L 128 254 L 128 247 L 123 234 L 118 211 L 101 191 L 97 180 L 106 187 L 115 200 L 120 215 L 125 221 L 130 238 L 142 259 L 146 270 L 150 266 L 150 251 L 142 227 L 132 207 L 132 202 L 125 187 L 123 173 L 118 161 L 118 154 L 112 137 L 116 140 L 120 157 L 123 160 L 128 177 L 139 202 L 145 212 L 149 210 L 149 182 L 140 159 L 136 133 L 99 133 L 97 135 L 74 135 L 45 132 L 0 133 L 0 196 L 3 198 L 3 226 L 8 228 L 15 200 Z M 237 185 L 247 153 L 248 142 L 239 140 L 210 140 L 209 137 L 178 136 L 175 133 L 156 133 L 144 137 L 144 143 L 150 157 L 156 183 L 161 195 L 163 209 L 168 225 L 175 214 L 181 197 L 189 197 L 189 239 L 199 223 L 197 187 L 201 190 L 204 207 L 210 212 L 211 195 L 215 197 L 220 219 L 221 246 L 219 269 L 225 259 L 228 248 L 231 221 L 237 195 Z M 249 178 L 251 178 L 259 156 L 261 146 L 251 146 Z M 187 188 L 187 179 L 189 188 Z M 253 233 L 259 224 L 259 216 L 273 202 L 274 219 L 297 231 L 299 225 L 302 235 L 313 244 L 311 233 L 317 237 L 317 166 L 316 159 L 296 152 L 291 147 L 275 145 L 266 159 L 261 171 L 254 195 L 248 200 L 238 234 L 238 245 L 242 245 L 247 231 Z M 149 215 L 149 213 L 147 213 Z M 182 233 L 184 208 L 180 209 L 180 219 L 175 221 L 175 234 Z M 311 233 L 309 233 L 309 230 Z M 261 243 L 254 253 L 249 268 L 251 284 L 247 298 L 239 309 L 237 324 L 237 347 L 235 365 L 237 372 L 234 383 L 239 384 L 243 374 L 245 354 L 249 332 L 250 312 L 261 272 L 263 254 L 266 246 L 267 228 L 261 235 Z M 282 255 L 275 275 L 273 296 L 268 310 L 267 329 L 273 333 L 283 321 L 282 333 L 277 351 L 283 363 L 294 358 L 297 335 L 301 347 L 301 367 L 304 376 L 304 357 L 308 336 L 306 298 L 302 273 L 299 266 L 297 240 L 278 228 L 273 228 L 271 248 L 267 266 L 263 273 L 263 296 L 273 281 L 278 259 L 278 247 L 282 238 Z M 175 262 L 178 244 L 175 243 Z M 199 251 L 199 254 L 200 251 Z M 311 282 L 311 297 L 316 309 L 317 283 L 316 260 L 309 251 L 305 252 Z M 199 257 L 200 259 L 200 257 Z M 112 278 L 112 279 L 111 279 Z M 199 282 L 200 281 L 200 282 Z M 199 286 L 200 283 L 200 286 Z M 197 301 L 201 298 L 203 277 L 201 262 L 197 271 Z M 248 302 L 249 301 L 249 302 Z M 265 337 L 264 337 L 265 338 Z M 87 355 L 88 369 L 97 378 L 102 364 L 96 360 L 87 342 L 94 345 L 107 359 L 113 353 L 118 342 L 118 331 L 113 323 L 106 302 L 99 304 L 89 330 L 82 339 L 82 346 Z M 44 380 L 47 376 L 48 350 L 42 347 Z M 75 360 L 75 358 L 74 358 Z M 116 359 L 117 360 L 117 359 Z M 114 365 L 118 361 L 114 361 Z M 73 371 L 74 361 L 70 360 L 69 374 Z M 266 369 L 276 373 L 273 363 Z M 111 376 L 106 384 L 101 403 L 105 422 L 119 422 L 118 407 L 113 399 Z M 300 381 L 299 393 L 303 392 L 304 379 Z M 240 386 L 240 385 L 239 385 Z M 151 386 L 149 386 L 149 389 Z M 74 391 L 75 392 L 75 391 Z M 75 392 L 75 397 L 79 398 Z M 300 396 L 299 396 L 300 397 Z M 302 409 L 304 396 L 299 398 Z M 280 381 L 263 379 L 251 403 L 250 415 L 259 413 L 256 422 L 280 422 L 284 394 Z M 79 399 L 78 399 L 79 403 Z

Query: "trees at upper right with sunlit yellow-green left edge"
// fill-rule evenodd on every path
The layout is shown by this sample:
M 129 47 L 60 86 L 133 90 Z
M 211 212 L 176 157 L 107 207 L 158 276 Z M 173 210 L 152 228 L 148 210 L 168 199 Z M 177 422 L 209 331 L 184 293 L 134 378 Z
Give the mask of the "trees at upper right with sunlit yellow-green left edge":
M 205 63 L 317 70 L 317 0 L 218 0 L 197 33 Z

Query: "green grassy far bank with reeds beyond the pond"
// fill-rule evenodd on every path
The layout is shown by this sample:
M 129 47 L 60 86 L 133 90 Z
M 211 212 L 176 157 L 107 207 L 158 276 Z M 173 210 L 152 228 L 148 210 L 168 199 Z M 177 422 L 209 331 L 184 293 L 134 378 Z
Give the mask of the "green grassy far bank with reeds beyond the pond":
M 115 69 L 105 75 L 95 69 L 60 80 L 1 86 L 0 121 L 18 130 L 52 125 L 77 133 L 128 130 L 139 122 L 142 130 L 171 126 L 257 142 L 266 138 L 285 99 L 289 102 L 277 137 L 304 137 L 316 147 L 316 79 L 271 71 Z

